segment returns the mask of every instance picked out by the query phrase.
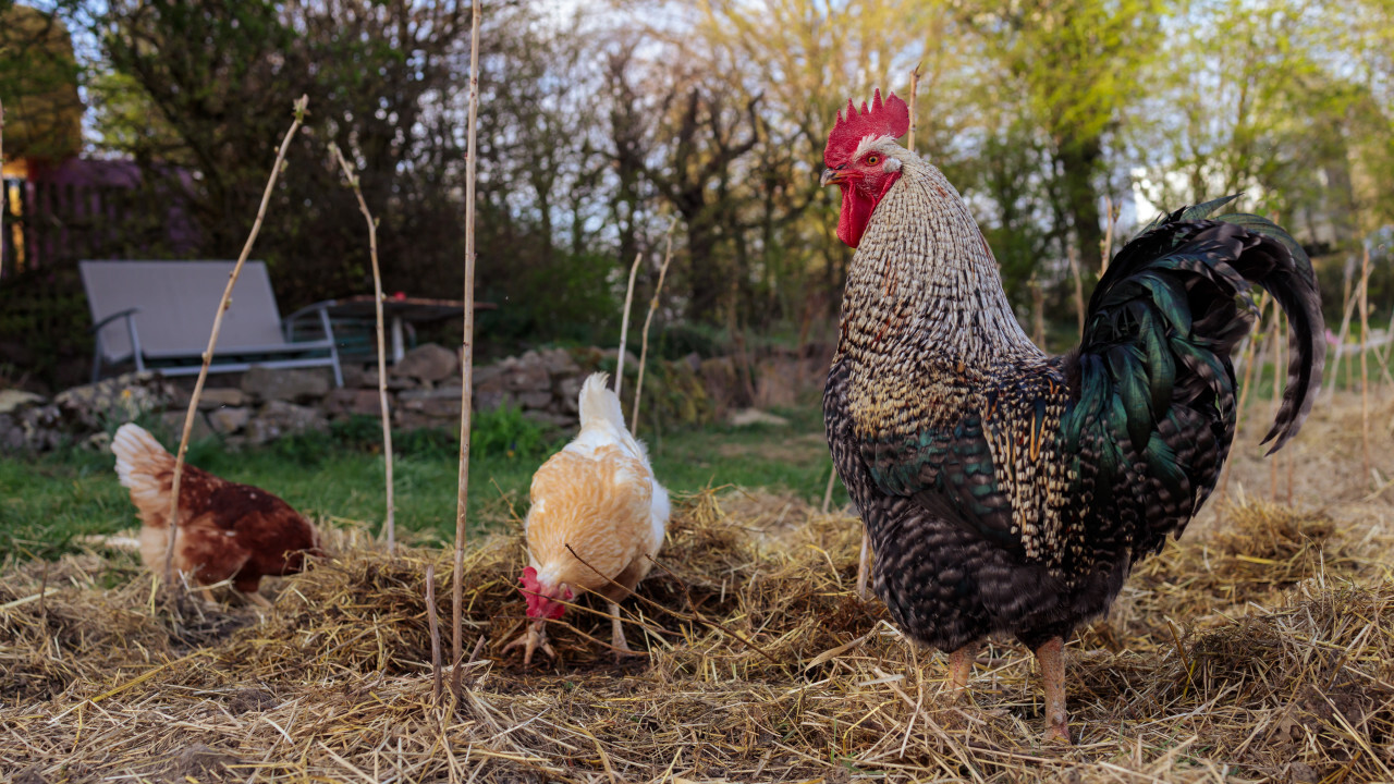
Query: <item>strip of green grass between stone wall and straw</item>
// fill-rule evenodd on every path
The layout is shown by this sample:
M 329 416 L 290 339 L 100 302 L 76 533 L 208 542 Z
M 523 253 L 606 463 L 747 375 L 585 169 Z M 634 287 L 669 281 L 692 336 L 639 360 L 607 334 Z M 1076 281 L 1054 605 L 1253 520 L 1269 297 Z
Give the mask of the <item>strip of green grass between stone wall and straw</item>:
M 671 492 L 733 484 L 768 487 L 821 501 L 832 463 L 822 420 L 813 406 L 776 412 L 788 427 L 714 425 L 640 434 L 654 469 Z M 542 460 L 566 444 L 546 438 L 516 412 L 477 419 L 470 465 L 470 526 L 506 526 L 509 502 L 527 512 L 528 484 Z M 376 420 L 336 423 L 329 434 L 282 439 L 270 446 L 226 451 L 217 439 L 190 446 L 188 460 L 224 478 L 263 487 L 314 519 L 383 516 L 383 462 Z M 166 445 L 173 439 L 156 434 Z M 397 526 L 417 541 L 449 541 L 454 533 L 457 442 L 446 432 L 393 435 Z M 375 451 L 376 449 L 376 451 Z M 0 456 L 0 564 L 54 558 L 71 540 L 138 525 L 116 478 L 110 452 L 67 448 L 42 456 Z M 835 501 L 845 502 L 838 485 Z

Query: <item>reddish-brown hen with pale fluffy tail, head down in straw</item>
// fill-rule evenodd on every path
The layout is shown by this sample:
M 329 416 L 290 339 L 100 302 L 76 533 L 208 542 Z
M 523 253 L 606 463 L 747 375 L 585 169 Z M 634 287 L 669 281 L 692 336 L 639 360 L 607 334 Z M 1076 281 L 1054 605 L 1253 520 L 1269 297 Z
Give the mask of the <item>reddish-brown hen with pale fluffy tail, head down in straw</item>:
M 164 569 L 174 456 L 134 423 L 112 439 L 116 473 L 141 513 L 141 561 Z M 185 465 L 180 474 L 174 568 L 199 586 L 231 580 L 248 600 L 269 608 L 258 589 L 263 576 L 300 572 L 305 555 L 321 555 L 315 527 L 265 490 L 222 480 Z M 204 596 L 209 591 L 205 587 Z

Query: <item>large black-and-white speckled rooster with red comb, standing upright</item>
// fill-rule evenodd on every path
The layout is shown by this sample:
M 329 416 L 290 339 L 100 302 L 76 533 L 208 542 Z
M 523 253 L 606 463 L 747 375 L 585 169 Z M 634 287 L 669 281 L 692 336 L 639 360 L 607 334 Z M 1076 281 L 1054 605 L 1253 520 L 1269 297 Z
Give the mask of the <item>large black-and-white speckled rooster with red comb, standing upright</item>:
M 828 134 L 821 183 L 842 190 L 838 237 L 856 248 L 828 445 L 901 629 L 949 651 L 955 695 L 983 638 L 1015 636 L 1041 665 L 1046 739 L 1068 744 L 1064 640 L 1214 488 L 1255 285 L 1292 325 L 1264 442 L 1278 449 L 1306 419 L 1326 356 L 1316 279 L 1274 223 L 1207 219 L 1230 199 L 1181 209 L 1114 257 L 1079 346 L 1047 356 L 958 191 L 896 144 L 907 124 L 905 102 L 877 91 Z

